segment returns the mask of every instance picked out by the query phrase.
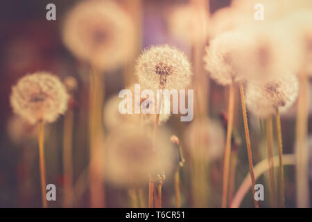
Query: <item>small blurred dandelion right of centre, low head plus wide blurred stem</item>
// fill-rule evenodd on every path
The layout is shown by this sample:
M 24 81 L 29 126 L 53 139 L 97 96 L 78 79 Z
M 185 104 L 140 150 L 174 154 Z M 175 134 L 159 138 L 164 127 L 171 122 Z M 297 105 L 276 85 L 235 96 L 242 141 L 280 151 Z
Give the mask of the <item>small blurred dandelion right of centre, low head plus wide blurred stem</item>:
M 209 175 L 207 167 L 211 162 L 218 160 L 225 147 L 225 135 L 220 123 L 213 119 L 195 119 L 184 133 L 189 153 L 194 164 L 191 187 L 194 207 L 205 207 L 209 193 Z M 202 197 L 205 198 L 202 198 Z

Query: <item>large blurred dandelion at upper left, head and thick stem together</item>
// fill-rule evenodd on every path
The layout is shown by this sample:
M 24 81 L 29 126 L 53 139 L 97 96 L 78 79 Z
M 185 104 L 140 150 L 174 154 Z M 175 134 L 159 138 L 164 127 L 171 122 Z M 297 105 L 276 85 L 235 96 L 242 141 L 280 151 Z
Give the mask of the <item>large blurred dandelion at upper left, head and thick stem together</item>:
M 135 31 L 132 19 L 114 1 L 83 1 L 67 15 L 63 40 L 80 60 L 92 66 L 90 75 L 89 146 L 90 161 L 96 151 L 96 133 L 103 135 L 102 108 L 105 78 L 103 71 L 112 70 L 131 60 L 135 53 Z M 101 131 L 101 133 L 99 133 Z M 103 178 L 91 171 L 90 198 L 92 207 L 103 207 Z M 102 169 L 100 167 L 99 169 Z M 101 173 L 100 173 L 101 174 Z M 93 188 L 92 188 L 93 187 Z

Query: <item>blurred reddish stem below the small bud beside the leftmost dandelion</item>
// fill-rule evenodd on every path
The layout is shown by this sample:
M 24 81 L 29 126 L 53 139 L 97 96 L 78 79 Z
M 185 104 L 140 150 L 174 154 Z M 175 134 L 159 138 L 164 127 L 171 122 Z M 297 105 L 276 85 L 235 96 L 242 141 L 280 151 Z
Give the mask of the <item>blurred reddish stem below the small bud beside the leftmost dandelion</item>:
M 69 108 L 64 117 L 63 166 L 64 166 L 64 207 L 71 207 L 73 198 L 73 110 Z

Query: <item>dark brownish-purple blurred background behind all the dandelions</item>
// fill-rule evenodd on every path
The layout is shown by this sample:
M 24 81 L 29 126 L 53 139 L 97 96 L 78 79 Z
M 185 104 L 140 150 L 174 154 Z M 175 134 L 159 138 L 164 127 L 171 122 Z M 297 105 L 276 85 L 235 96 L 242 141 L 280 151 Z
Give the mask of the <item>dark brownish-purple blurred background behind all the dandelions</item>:
M 246 0 L 247 1 L 247 0 Z M 35 71 L 51 71 L 60 79 L 73 76 L 78 80 L 78 90 L 73 94 L 74 110 L 74 139 L 73 139 L 73 183 L 79 190 L 73 207 L 89 207 L 87 180 L 84 172 L 88 166 L 87 144 L 87 110 L 88 85 L 87 67 L 78 62 L 67 50 L 62 42 L 62 24 L 66 12 L 79 1 L 73 0 L 3 0 L 0 3 L 0 207 L 41 207 L 40 173 L 37 158 L 37 139 L 35 126 L 21 124 L 19 117 L 12 113 L 10 107 L 11 87 L 25 74 Z M 137 56 L 141 50 L 153 44 L 171 44 L 182 49 L 192 58 L 192 48 L 189 44 L 177 39 L 168 31 L 167 15 L 175 6 L 189 3 L 187 0 L 116 0 L 125 11 L 128 11 L 139 27 Z M 207 11 L 210 15 L 220 8 L 230 6 L 231 0 L 207 1 Z M 46 20 L 46 5 L 55 3 L 56 21 Z M 137 10 L 135 7 L 138 7 Z M 135 8 L 135 9 L 134 9 Z M 253 9 L 252 9 L 253 10 Z M 231 19 L 229 17 L 228 19 Z M 208 27 L 209 29 L 209 27 Z M 205 42 L 207 45 L 209 40 Z M 124 73 L 133 70 L 136 57 L 125 67 L 119 67 L 105 74 L 105 100 L 125 88 L 128 77 Z M 131 78 L 131 77 L 129 77 Z M 208 80 L 207 80 L 208 81 Z M 227 89 L 216 85 L 214 81 L 207 82 L 210 98 L 209 116 L 222 123 L 222 114 L 227 112 Z M 236 181 L 234 187 L 239 187 L 248 175 L 248 158 L 245 150 L 245 138 L 241 108 L 239 103 L 235 110 L 235 139 L 238 139 L 238 164 L 236 166 Z M 196 112 L 196 110 L 195 110 Z M 239 113 L 239 114 L 237 114 Z M 226 115 L 226 114 L 225 114 Z M 309 120 L 311 121 L 311 120 Z M 184 135 L 190 123 L 180 122 L 180 117 L 171 117 L 166 125 L 173 134 L 180 137 L 182 147 L 187 147 Z M 64 117 L 46 127 L 46 182 L 57 187 L 57 200 L 49 202 L 49 207 L 62 207 L 64 173 L 62 166 L 62 129 Z M 252 144 L 259 144 L 254 149 L 254 163 L 263 160 L 264 151 L 261 149 L 261 128 L 257 119 L 250 119 Z M 285 114 L 282 117 L 284 153 L 293 153 L 295 115 Z M 225 128 L 223 128 L 225 132 Z M 262 132 L 263 133 L 263 132 Z M 264 152 L 264 154 L 263 154 Z M 186 151 L 186 165 L 181 173 L 181 202 L 182 207 L 194 207 L 194 200 L 190 190 L 191 182 L 188 161 L 189 152 Z M 209 168 L 208 203 L 199 206 L 220 207 L 222 196 L 222 164 L 223 157 L 214 160 Z M 286 206 L 295 207 L 295 178 L 294 168 L 286 167 Z M 259 182 L 267 184 L 267 177 L 259 178 Z M 257 180 L 258 181 L 258 180 Z M 164 188 L 164 206 L 174 207 L 173 178 L 167 176 Z M 311 179 L 310 179 L 311 185 Z M 144 187 L 146 191 L 147 187 Z M 266 198 L 268 197 L 266 189 Z M 130 207 L 128 191 L 105 185 L 107 207 Z M 241 207 L 252 207 L 251 192 L 244 198 Z M 312 200 L 312 198 L 311 198 Z M 265 201 L 261 207 L 269 207 Z

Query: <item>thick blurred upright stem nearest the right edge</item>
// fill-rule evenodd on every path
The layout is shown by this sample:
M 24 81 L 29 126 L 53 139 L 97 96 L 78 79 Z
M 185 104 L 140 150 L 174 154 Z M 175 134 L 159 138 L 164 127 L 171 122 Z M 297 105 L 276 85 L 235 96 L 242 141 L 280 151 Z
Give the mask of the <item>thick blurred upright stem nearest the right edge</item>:
M 296 120 L 296 183 L 297 207 L 310 207 L 309 204 L 309 149 L 307 143 L 309 117 L 309 79 L 306 72 L 299 78 L 299 98 Z

